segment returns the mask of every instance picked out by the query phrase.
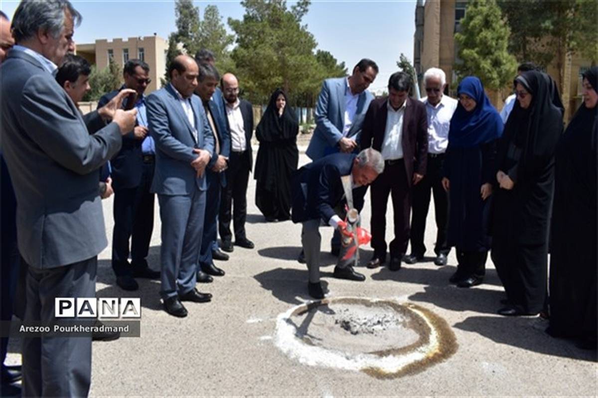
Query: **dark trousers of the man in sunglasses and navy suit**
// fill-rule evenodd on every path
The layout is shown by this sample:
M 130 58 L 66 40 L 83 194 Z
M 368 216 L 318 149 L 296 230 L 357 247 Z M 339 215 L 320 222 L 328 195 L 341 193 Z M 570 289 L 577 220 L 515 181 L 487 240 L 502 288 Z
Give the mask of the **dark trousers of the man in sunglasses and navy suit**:
M 114 230 L 112 232 L 112 269 L 117 276 L 130 275 L 129 238 L 133 267 L 147 266 L 145 258 L 154 229 L 154 162 L 144 163 L 139 186 L 114 192 Z

